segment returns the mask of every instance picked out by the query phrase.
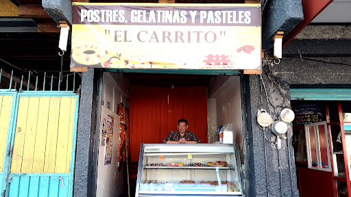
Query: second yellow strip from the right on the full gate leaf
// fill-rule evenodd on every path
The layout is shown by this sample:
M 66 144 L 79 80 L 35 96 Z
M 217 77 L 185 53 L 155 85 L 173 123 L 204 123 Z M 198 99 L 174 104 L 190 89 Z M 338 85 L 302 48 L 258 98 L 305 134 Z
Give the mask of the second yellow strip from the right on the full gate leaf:
M 45 148 L 44 172 L 54 173 L 56 163 L 56 145 L 58 138 L 58 120 L 60 116 L 60 97 L 50 98 L 49 120 L 47 122 L 47 144 Z

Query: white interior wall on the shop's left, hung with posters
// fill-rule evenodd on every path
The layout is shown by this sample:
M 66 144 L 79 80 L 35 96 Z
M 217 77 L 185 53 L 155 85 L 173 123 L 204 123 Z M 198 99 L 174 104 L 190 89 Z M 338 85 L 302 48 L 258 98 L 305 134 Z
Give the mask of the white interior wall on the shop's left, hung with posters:
M 103 78 L 103 90 L 101 98 L 101 121 L 106 118 L 108 112 L 114 116 L 114 127 L 113 127 L 113 140 L 112 140 L 112 163 L 108 166 L 104 166 L 105 148 L 106 146 L 100 146 L 101 142 L 101 131 L 99 133 L 99 153 L 97 161 L 97 197 L 117 197 L 121 195 L 126 186 L 126 168 L 123 166 L 119 171 L 117 168 L 117 155 L 119 151 L 119 116 L 117 116 L 118 105 L 121 102 L 121 93 L 119 92 L 120 87 L 118 83 L 110 77 L 105 75 Z M 125 96 L 126 97 L 126 96 Z M 126 99 L 126 98 L 125 98 Z M 123 99 L 123 101 L 125 101 Z M 108 104 L 109 103 L 109 104 Z M 125 104 L 125 103 L 123 103 Z M 128 106 L 128 105 L 127 105 Z M 110 108 L 110 109 L 108 109 Z

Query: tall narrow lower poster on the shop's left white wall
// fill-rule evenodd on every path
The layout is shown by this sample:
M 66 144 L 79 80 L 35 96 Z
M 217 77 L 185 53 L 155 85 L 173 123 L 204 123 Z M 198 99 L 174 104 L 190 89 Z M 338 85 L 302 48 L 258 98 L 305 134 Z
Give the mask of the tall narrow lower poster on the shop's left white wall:
M 104 118 L 104 120 L 105 120 L 105 118 Z M 111 113 L 107 113 L 106 122 L 104 124 L 106 124 L 106 142 L 105 142 L 105 162 L 104 162 L 104 165 L 108 166 L 112 163 L 112 145 L 113 145 L 112 141 L 113 141 L 114 115 Z

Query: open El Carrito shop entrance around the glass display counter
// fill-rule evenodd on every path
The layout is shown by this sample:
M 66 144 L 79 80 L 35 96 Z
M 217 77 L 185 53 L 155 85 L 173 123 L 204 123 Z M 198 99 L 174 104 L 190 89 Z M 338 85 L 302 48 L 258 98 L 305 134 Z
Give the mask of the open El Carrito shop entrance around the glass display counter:
M 243 164 L 243 118 L 239 76 L 106 72 L 103 73 L 102 87 L 101 111 L 105 108 L 108 113 L 118 117 L 117 106 L 123 103 L 130 115 L 130 133 L 127 137 L 130 139 L 130 150 L 127 154 L 128 161 L 122 164 L 125 167 L 121 170 L 115 168 L 119 153 L 114 149 L 112 164 L 104 166 L 106 148 L 99 144 L 97 188 L 105 185 L 105 196 L 128 196 L 128 192 L 125 191 L 128 187 L 130 196 L 134 196 L 140 142 L 162 143 L 169 131 L 177 129 L 176 124 L 180 118 L 187 119 L 189 131 L 193 131 L 202 143 L 209 144 L 219 141 L 219 125 L 232 125 L 233 141 L 239 146 Z M 145 104 L 146 100 L 152 104 Z M 140 113 L 141 111 L 143 113 Z M 136 113 L 139 115 L 136 116 Z M 101 117 L 101 120 L 103 119 Z M 116 124 L 117 118 L 114 118 L 114 123 L 114 131 L 117 132 L 113 134 L 113 147 L 117 148 L 120 135 L 118 131 L 121 127 Z M 158 131 L 148 131 L 146 127 L 156 128 Z M 106 176 L 109 179 L 106 179 Z M 97 191 L 97 196 L 102 195 Z

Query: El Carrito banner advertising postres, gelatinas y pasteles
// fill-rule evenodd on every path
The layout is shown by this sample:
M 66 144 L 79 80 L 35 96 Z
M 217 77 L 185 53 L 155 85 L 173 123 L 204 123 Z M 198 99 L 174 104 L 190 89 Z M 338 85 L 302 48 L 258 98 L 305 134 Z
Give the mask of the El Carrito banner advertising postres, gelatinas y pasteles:
M 74 2 L 71 67 L 261 70 L 261 5 Z

